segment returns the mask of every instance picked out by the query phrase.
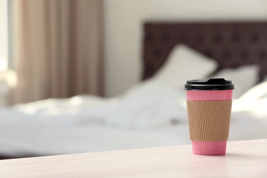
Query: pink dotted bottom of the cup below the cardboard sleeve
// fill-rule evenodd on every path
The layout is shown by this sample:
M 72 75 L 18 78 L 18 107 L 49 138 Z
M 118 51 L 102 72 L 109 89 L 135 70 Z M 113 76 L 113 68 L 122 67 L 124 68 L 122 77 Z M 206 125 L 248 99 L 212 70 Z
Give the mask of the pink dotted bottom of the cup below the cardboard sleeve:
M 225 155 L 227 140 L 224 141 L 193 141 L 192 149 L 196 155 Z

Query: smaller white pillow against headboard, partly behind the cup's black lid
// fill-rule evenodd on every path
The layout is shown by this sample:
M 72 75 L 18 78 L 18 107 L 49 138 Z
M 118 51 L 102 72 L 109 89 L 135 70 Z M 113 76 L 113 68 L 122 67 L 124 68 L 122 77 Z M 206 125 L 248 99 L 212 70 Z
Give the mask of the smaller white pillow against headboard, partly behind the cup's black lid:
M 248 65 L 238 68 L 225 68 L 219 71 L 212 78 L 225 78 L 233 81 L 235 90 L 233 90 L 233 99 L 238 99 L 244 92 L 257 84 L 259 75 L 259 66 Z

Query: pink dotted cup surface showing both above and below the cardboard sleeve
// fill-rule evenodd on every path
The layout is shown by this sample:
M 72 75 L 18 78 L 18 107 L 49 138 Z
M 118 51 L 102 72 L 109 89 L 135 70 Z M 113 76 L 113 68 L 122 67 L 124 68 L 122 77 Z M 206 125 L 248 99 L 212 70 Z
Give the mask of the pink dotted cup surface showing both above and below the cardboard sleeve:
M 225 101 L 231 100 L 233 90 L 187 90 L 190 101 Z M 225 155 L 227 140 L 195 141 L 192 140 L 193 153 L 196 155 Z

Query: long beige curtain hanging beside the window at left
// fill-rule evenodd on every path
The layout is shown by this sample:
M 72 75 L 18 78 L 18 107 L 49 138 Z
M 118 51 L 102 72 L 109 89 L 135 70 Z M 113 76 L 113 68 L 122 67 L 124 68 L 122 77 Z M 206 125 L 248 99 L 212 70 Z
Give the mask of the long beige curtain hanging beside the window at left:
M 103 94 L 100 0 L 14 1 L 11 103 Z

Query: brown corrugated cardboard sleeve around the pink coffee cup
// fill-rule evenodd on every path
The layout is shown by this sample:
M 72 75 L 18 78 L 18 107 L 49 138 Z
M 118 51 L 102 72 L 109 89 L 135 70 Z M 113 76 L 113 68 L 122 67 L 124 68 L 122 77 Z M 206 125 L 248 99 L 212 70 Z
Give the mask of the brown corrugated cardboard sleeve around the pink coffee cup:
M 190 139 L 222 141 L 229 136 L 232 101 L 187 101 Z

